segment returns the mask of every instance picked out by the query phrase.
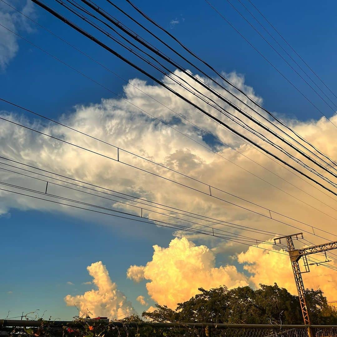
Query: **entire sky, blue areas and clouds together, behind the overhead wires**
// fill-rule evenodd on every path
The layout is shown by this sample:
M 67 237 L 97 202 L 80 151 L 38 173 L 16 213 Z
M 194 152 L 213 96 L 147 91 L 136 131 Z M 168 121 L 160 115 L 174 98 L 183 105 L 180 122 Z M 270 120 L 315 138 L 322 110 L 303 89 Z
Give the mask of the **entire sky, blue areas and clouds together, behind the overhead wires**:
M 85 130 L 133 153 L 174 167 L 201 181 L 210 182 L 214 186 L 220 186 L 254 202 L 268 205 L 271 209 L 282 211 L 290 216 L 296 215 L 297 218 L 314 223 L 318 228 L 324 228 L 326 231 L 333 228 L 334 212 L 326 204 L 335 207 L 334 200 L 331 201 L 331 198 L 284 172 L 282 168 L 275 166 L 234 139 L 228 132 L 214 126 L 205 117 L 196 115 L 189 106 L 168 95 L 163 88 L 148 80 L 145 75 L 58 22 L 30 0 L 8 1 L 11 6 L 67 40 L 103 64 L 105 68 L 1 2 L 0 24 L 32 43 L 0 27 L 1 98 L 49 118 L 66 122 L 67 125 Z M 66 13 L 57 6 L 56 2 L 47 1 L 47 3 Z M 125 1 L 116 3 L 132 15 L 136 15 Z M 238 1 L 233 0 L 232 3 L 249 17 Z M 243 3 L 252 9 L 249 2 L 244 0 Z M 126 21 L 106 2 L 101 0 L 99 4 L 132 29 L 135 28 L 134 24 Z M 334 115 L 334 111 L 270 49 L 227 1 L 212 1 L 212 4 L 318 109 L 328 117 Z M 325 2 L 317 6 L 313 1 L 285 1 L 282 4 L 256 1 L 254 4 L 277 27 L 299 55 L 304 57 L 332 92 L 337 92 L 336 64 L 333 57 L 337 49 L 334 43 L 337 25 L 334 20 L 336 3 Z M 317 109 L 253 50 L 205 1 L 171 1 L 169 4 L 146 1 L 136 2 L 136 5 L 186 43 L 188 48 L 197 55 L 207 60 L 215 69 L 227 74 L 240 88 L 250 92 L 266 108 L 288 121 L 332 158 L 336 158 L 335 130 L 331 123 L 321 119 L 322 116 Z M 139 19 L 145 23 L 143 19 Z M 249 20 L 253 22 L 253 19 L 249 18 Z M 76 22 L 80 23 L 80 21 Z M 164 37 L 162 32 L 157 31 L 157 34 Z M 153 38 L 147 35 L 146 37 L 154 42 Z M 108 39 L 104 41 L 107 42 Z M 60 63 L 41 49 L 87 77 Z M 116 47 L 116 50 L 125 53 L 121 47 Z M 173 57 L 173 53 L 168 51 L 167 55 Z M 133 56 L 130 59 L 136 60 Z M 201 67 L 203 70 L 206 69 L 204 66 Z M 149 69 L 148 66 L 145 68 Z M 195 69 L 190 70 L 193 74 L 201 75 Z M 176 116 L 173 113 L 154 103 L 134 86 L 126 85 L 124 80 L 112 72 L 164 102 L 171 109 L 189 116 L 197 122 L 197 125 L 202 125 L 222 141 L 254 157 L 259 163 L 291 180 L 297 186 L 301 186 L 326 204 L 277 180 L 273 175 L 266 173 L 261 167 L 253 166 L 250 161 L 243 159 L 228 147 L 207 139 L 205 135 L 180 119 L 174 119 Z M 159 77 L 162 78 L 162 76 Z M 168 79 L 165 81 L 169 82 Z M 288 195 L 255 179 L 247 172 L 240 171 L 236 166 L 224 162 L 223 158 L 215 156 L 205 148 L 198 147 L 186 137 L 175 133 L 172 128 L 151 120 L 149 116 L 134 106 L 128 105 L 113 92 L 162 118 L 168 124 L 176 125 L 179 130 L 191 135 L 193 139 L 210 146 L 215 152 L 227 156 L 248 171 L 277 184 L 279 188 L 289 191 L 310 205 L 323 209 L 329 216 L 322 217 L 318 211 L 298 201 L 294 202 Z M 330 97 L 334 98 L 333 95 Z M 109 156 L 116 154 L 116 151 L 112 152 L 108 146 L 32 117 L 6 103 L 0 103 L 0 113 L 11 120 L 34 126 L 55 136 L 61 135 L 67 141 L 85 144 Z M 335 116 L 333 118 L 336 119 Z M 118 166 L 119 163 L 111 163 L 106 158 L 98 158 L 80 149 L 73 149 L 65 144 L 59 145 L 40 135 L 32 134 L 29 130 L 7 125 L 4 121 L 0 123 L 0 130 L 2 153 L 12 159 L 20 159 L 49 168 L 54 172 L 63 172 L 76 179 L 109 186 L 114 190 L 146 196 L 150 200 L 165 205 L 176 205 L 182 209 L 204 212 L 202 214 L 227 221 L 248 223 L 265 230 L 273 226 L 273 231 L 285 231 L 280 224 L 271 224 L 266 219 L 260 219 L 252 214 L 247 215 L 234 207 L 226 206 L 224 209 L 221 203 L 210 201 L 202 195 L 195 195 L 191 190 L 153 176 L 149 177 L 129 167 Z M 139 159 L 128 157 L 126 153 L 122 155 L 130 163 L 136 162 L 152 172 L 163 173 L 149 163 L 142 163 Z M 180 180 L 181 177 L 174 176 L 172 172 L 167 174 L 172 179 L 186 182 L 186 180 Z M 28 184 L 25 186 L 32 186 L 27 179 L 18 179 L 8 173 L 1 173 L 1 175 L 8 182 L 20 181 L 22 184 Z M 43 185 L 37 182 L 34 184 L 37 188 L 42 188 Z M 71 191 L 61 191 L 56 186 L 52 188 L 57 192 L 65 193 L 62 195 L 68 197 L 78 195 Z M 91 199 L 88 196 L 86 200 Z M 102 203 L 105 201 L 103 200 Z M 116 207 L 120 210 L 124 209 L 120 205 Z M 173 233 L 170 229 L 153 224 L 141 224 L 81 210 L 70 210 L 66 207 L 60 209 L 46 202 L 1 192 L 0 226 L 3 238 L 2 251 L 5 255 L 3 268 L 1 268 L 4 277 L 0 280 L 1 318 L 6 317 L 8 311 L 10 311 L 8 317 L 15 317 L 21 316 L 22 312 L 35 312 L 38 309 L 39 314 L 47 310 L 45 316 L 48 317 L 51 315 L 54 318 L 71 319 L 77 313 L 73 306 L 75 302 L 79 303 L 82 312 L 89 305 L 93 313 L 97 315 L 106 313 L 111 317 L 122 316 L 126 312 L 142 312 L 156 303 L 167 304 L 174 308 L 179 301 L 195 295 L 199 286 L 206 288 L 222 284 L 228 287 L 246 284 L 258 286 L 260 281 L 273 283 L 273 279 L 265 274 L 263 263 L 254 262 L 264 261 L 264 259 L 264 263 L 270 263 L 271 266 L 284 266 L 283 269 L 279 268 L 279 271 L 275 272 L 274 279 L 278 282 L 283 280 L 281 286 L 294 291 L 291 274 L 289 276 L 287 269 L 288 260 L 284 259 L 286 257 L 283 255 L 274 258 L 273 254 L 266 255 L 262 253 L 265 251 L 260 249 L 247 250 L 246 246 L 223 240 L 182 234 L 179 231 Z M 300 229 L 303 228 L 306 227 L 300 226 Z M 294 228 L 287 229 L 289 230 L 295 231 Z M 311 229 L 310 232 L 312 232 Z M 326 236 L 329 240 L 335 238 Z M 309 234 L 307 238 L 317 240 Z M 271 237 L 265 236 L 262 239 L 269 240 Z M 319 240 L 321 242 L 323 239 Z M 182 254 L 186 254 L 184 259 L 185 262 L 189 261 L 189 264 L 182 264 Z M 313 268 L 311 278 L 307 277 L 305 282 L 308 286 L 316 288 L 321 286 L 329 294 L 330 300 L 335 300 L 337 294 L 333 292 L 333 288 L 336 278 L 333 273 L 335 272 L 330 269 L 323 270 L 323 267 Z M 195 277 L 193 282 L 190 280 L 190 275 L 199 274 L 203 277 Z M 325 276 L 318 281 L 321 275 Z M 319 284 L 322 279 L 326 280 L 325 284 Z M 174 280 L 175 282 L 172 282 L 174 286 L 167 280 Z M 105 293 L 109 293 L 110 297 L 105 298 Z M 117 303 L 122 304 L 118 307 Z M 34 317 L 35 313 L 29 316 Z

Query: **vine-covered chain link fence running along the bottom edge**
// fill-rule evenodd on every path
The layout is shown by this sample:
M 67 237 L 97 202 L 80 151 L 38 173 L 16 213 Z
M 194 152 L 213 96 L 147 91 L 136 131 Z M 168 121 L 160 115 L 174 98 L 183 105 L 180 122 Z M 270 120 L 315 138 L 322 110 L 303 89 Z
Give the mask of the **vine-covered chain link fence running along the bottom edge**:
M 337 337 L 337 326 L 311 326 L 312 337 Z M 308 337 L 301 325 L 44 321 L 0 319 L 0 336 L 11 337 Z

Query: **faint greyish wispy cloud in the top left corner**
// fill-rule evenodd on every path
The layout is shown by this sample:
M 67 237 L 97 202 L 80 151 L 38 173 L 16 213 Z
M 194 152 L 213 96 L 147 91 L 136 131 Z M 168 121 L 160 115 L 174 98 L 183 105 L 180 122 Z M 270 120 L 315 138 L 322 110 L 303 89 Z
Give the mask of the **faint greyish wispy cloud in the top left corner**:
M 9 1 L 9 3 L 18 8 L 25 15 L 34 17 L 33 3 L 27 0 L 24 6 L 20 2 Z M 4 3 L 0 4 L 0 23 L 13 32 L 31 32 L 32 28 L 22 14 L 10 8 Z M 5 69 L 10 60 L 17 54 L 19 44 L 16 35 L 7 29 L 0 27 L 0 68 Z

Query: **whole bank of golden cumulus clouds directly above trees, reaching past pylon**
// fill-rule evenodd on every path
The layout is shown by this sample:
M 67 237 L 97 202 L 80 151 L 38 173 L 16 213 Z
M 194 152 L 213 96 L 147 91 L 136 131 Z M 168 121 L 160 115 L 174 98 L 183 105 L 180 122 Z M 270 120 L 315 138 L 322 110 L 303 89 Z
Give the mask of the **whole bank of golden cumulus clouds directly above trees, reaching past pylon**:
M 229 264 L 216 268 L 215 254 L 208 247 L 196 246 L 186 238 L 175 238 L 167 248 L 155 245 L 152 261 L 142 268 L 144 278 L 149 281 L 146 284 L 148 294 L 156 303 L 167 305 L 171 309 L 198 294 L 199 287 L 207 290 L 221 285 L 229 289 L 245 285 L 258 288 L 261 283 L 269 285 L 276 282 L 280 287 L 297 295 L 289 256 L 279 254 L 282 251 L 267 244 L 259 244 L 258 247 L 269 250 L 250 247 L 234 259 L 233 262 L 236 265 L 239 263 L 246 272 L 242 273 L 236 266 Z M 314 257 L 322 260 L 322 256 Z M 332 265 L 337 267 L 335 262 Z M 134 267 L 131 266 L 131 270 Z M 335 300 L 335 273 L 335 270 L 323 266 L 311 267 L 310 274 L 303 274 L 305 287 L 321 289 L 328 300 Z M 131 279 L 132 275 L 130 273 Z M 137 280 L 137 274 L 134 275 Z M 151 310 L 155 308 L 151 307 Z

